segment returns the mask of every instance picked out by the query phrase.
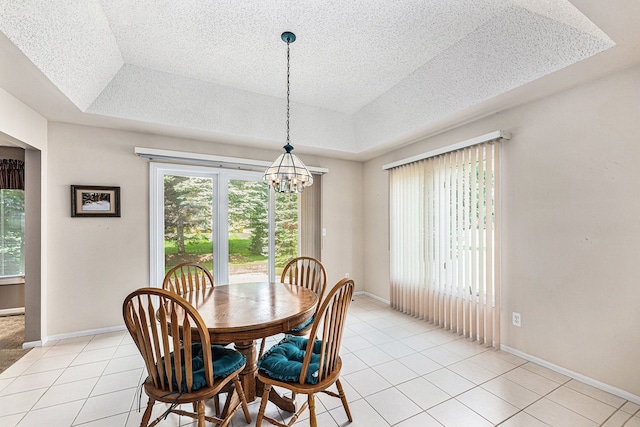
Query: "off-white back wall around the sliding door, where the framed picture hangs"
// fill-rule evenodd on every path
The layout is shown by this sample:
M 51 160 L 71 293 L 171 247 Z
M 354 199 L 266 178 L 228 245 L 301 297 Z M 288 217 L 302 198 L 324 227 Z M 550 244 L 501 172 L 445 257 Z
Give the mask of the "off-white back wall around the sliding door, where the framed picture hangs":
M 49 337 L 122 326 L 124 297 L 149 285 L 149 166 L 147 159 L 134 155 L 135 146 L 260 160 L 273 160 L 280 154 L 50 123 Z M 360 164 L 300 156 L 308 165 L 329 168 L 323 181 L 327 237 L 322 252 L 329 281 L 335 283 L 350 272 L 359 282 L 358 277 L 363 276 L 358 241 L 363 198 Z M 121 218 L 71 218 L 71 184 L 120 186 Z

